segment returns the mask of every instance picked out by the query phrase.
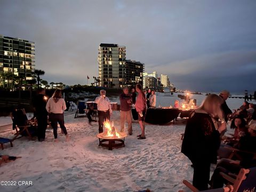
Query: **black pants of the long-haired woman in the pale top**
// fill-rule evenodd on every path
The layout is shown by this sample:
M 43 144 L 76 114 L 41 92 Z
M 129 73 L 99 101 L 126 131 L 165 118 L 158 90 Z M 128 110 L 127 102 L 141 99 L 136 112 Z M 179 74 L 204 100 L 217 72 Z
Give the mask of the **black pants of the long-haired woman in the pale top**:
M 64 115 L 63 114 L 51 113 L 49 117 L 50 117 L 51 125 L 53 128 L 54 139 L 58 138 L 58 134 L 57 134 L 58 123 L 60 124 L 60 128 L 63 131 L 63 133 L 65 133 L 65 135 L 68 134 L 67 129 L 64 125 Z

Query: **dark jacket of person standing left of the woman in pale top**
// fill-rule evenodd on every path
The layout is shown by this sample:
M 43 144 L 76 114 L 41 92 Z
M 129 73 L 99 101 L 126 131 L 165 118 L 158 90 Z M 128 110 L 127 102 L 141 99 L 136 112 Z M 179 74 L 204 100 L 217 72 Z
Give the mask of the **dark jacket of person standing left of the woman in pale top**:
M 46 110 L 46 103 L 47 100 L 44 99 L 43 94 L 38 94 L 33 100 L 33 107 L 35 108 L 35 115 L 38 116 L 47 116 L 47 110 Z

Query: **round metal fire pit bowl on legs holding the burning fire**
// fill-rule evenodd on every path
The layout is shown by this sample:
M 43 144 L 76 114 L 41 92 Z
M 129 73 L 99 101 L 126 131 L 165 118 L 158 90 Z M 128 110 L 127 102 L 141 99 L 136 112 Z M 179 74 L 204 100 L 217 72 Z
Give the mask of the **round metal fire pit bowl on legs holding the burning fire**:
M 126 133 L 118 132 L 121 137 L 119 138 L 110 138 L 110 137 L 104 137 L 102 134 L 97 134 L 97 137 L 99 138 L 99 146 L 102 147 L 108 147 L 108 150 L 112 150 L 114 147 L 124 147 L 124 140 L 125 137 L 127 137 Z

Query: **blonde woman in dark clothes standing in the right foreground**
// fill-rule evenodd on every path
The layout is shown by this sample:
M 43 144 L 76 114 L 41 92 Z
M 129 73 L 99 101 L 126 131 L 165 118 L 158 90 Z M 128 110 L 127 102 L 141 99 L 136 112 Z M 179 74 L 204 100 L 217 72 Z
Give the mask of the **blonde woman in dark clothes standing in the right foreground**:
M 181 152 L 194 166 L 193 185 L 198 190 L 208 189 L 211 163 L 217 161 L 220 147 L 220 134 L 226 130 L 226 122 L 221 111 L 222 99 L 216 94 L 209 94 L 201 107 L 195 109 L 188 119 Z

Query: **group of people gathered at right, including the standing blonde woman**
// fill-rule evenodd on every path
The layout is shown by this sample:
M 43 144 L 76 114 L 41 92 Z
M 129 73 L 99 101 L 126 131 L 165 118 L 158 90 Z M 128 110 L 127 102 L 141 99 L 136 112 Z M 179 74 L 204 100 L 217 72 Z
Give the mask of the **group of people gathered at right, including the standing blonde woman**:
M 194 168 L 193 185 L 198 190 L 221 188 L 227 181 L 220 172 L 238 174 L 242 168 L 256 166 L 256 114 L 254 106 L 244 102 L 232 113 L 226 100 L 229 92 L 224 90 L 209 94 L 202 105 L 195 109 L 187 121 L 181 152 L 191 161 Z M 248 110 L 250 109 L 250 110 Z M 244 111 L 244 113 L 241 113 Z M 231 121 L 234 134 L 224 136 L 227 121 Z M 234 148 L 240 150 L 234 156 Z M 233 154 L 233 155 L 232 155 Z M 233 157 L 233 159 L 231 158 Z M 239 161 L 237 158 L 239 157 Z M 217 158 L 220 159 L 217 161 Z M 210 180 L 210 165 L 217 164 Z M 209 181 L 210 180 L 210 181 Z

